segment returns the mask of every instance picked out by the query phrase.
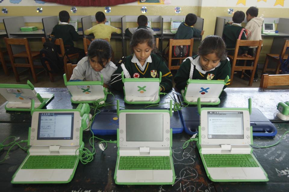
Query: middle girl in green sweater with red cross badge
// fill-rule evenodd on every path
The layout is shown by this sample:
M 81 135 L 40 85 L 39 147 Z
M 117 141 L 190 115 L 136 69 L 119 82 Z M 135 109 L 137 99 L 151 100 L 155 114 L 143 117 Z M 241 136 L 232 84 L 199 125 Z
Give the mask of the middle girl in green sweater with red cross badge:
M 154 36 L 146 29 L 138 29 L 132 35 L 129 47 L 134 53 L 123 61 L 111 76 L 111 87 L 123 90 L 121 72 L 131 78 L 159 78 L 160 71 L 162 79 L 160 91 L 172 89 L 172 73 L 169 71 L 161 57 L 152 53 L 154 48 Z

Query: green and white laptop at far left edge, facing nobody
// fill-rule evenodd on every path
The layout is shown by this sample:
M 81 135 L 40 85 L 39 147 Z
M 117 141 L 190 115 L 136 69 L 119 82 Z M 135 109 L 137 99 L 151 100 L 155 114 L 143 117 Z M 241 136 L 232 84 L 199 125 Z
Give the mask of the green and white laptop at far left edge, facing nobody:
M 0 84 L 0 93 L 8 101 L 5 109 L 8 111 L 30 111 L 31 101 L 35 101 L 35 109 L 42 109 L 54 94 L 39 94 L 32 83 L 27 80 L 27 85 Z

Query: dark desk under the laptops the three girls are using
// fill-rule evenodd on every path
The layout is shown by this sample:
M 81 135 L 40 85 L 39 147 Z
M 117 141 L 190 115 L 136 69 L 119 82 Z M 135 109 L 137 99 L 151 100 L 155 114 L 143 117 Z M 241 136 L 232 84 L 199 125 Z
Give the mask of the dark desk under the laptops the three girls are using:
M 70 93 L 67 88 L 35 88 L 37 93 L 54 94 L 54 98 L 45 106 L 46 109 L 75 109 L 76 104 L 70 102 Z M 115 100 L 112 104 L 116 104 L 116 100 L 120 99 L 120 106 L 128 109 L 144 108 L 145 105 L 129 105 L 123 102 L 123 93 L 113 91 Z M 182 102 L 182 95 L 174 89 L 169 92 L 174 99 Z M 236 99 L 237 98 L 237 99 Z M 288 101 L 288 89 L 274 89 L 274 88 L 230 88 L 227 87 L 220 95 L 220 104 L 208 107 L 247 107 L 248 98 L 252 98 L 252 107 L 258 108 L 271 122 L 282 123 L 283 121 L 276 117 L 278 112 L 276 105 L 279 102 Z M 169 103 L 171 99 L 168 95 L 160 95 L 160 103 Z M 107 102 L 112 101 L 113 96 L 107 95 Z M 29 112 L 11 112 L 5 110 L 5 104 L 0 106 L 0 123 L 1 122 L 31 122 Z M 160 108 L 167 108 L 169 104 L 161 105 Z M 192 107 L 196 107 L 192 105 Z M 206 107 L 206 106 L 204 106 Z M 111 106 L 108 106 L 112 109 Z

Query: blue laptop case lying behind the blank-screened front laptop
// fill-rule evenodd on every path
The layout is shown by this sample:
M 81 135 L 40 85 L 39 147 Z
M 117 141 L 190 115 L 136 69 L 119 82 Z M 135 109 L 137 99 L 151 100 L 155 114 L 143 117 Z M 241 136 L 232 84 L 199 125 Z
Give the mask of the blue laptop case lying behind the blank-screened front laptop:
M 150 109 L 156 109 L 156 108 L 146 108 L 146 110 Z M 163 108 L 157 108 L 157 109 L 163 109 Z M 167 108 L 165 108 L 167 109 Z M 180 111 L 172 111 L 172 116 L 170 118 L 170 126 L 172 128 L 172 133 L 182 133 L 184 130 Z M 117 110 L 101 110 L 100 113 L 98 113 L 94 121 L 91 125 L 91 131 L 93 134 L 96 135 L 116 135 L 117 134 L 117 128 L 119 128 L 119 119 L 117 116 Z

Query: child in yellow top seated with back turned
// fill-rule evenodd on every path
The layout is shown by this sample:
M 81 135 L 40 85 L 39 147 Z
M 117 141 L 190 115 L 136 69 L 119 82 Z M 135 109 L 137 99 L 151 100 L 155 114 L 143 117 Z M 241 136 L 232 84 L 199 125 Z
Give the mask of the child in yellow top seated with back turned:
M 121 29 L 110 25 L 105 25 L 106 18 L 102 11 L 95 13 L 95 19 L 98 24 L 92 26 L 90 29 L 86 29 L 84 31 L 84 35 L 93 33 L 95 39 L 108 38 L 108 41 L 110 42 L 111 33 L 121 33 Z

